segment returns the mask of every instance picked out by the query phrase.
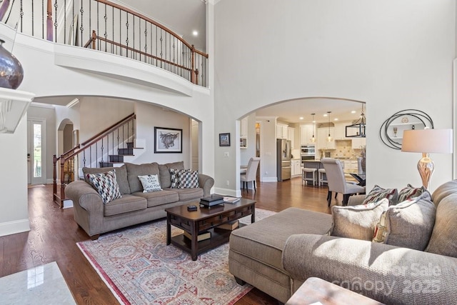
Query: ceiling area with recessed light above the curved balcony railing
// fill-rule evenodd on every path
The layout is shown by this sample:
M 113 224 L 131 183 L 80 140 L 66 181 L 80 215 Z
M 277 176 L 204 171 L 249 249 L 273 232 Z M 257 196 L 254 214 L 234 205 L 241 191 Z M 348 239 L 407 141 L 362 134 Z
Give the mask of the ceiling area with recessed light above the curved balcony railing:
M 206 52 L 206 0 L 117 0 L 148 16 Z M 194 36 L 193 31 L 198 35 Z

